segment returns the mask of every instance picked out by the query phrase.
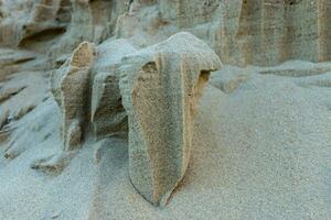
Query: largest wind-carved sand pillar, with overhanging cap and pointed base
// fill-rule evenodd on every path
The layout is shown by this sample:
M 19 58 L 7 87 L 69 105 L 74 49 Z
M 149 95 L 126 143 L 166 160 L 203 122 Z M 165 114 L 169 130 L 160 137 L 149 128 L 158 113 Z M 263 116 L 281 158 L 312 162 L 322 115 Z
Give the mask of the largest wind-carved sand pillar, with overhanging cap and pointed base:
M 218 68 L 218 56 L 189 33 L 122 59 L 130 179 L 156 206 L 167 202 L 185 173 L 197 99 L 210 72 Z

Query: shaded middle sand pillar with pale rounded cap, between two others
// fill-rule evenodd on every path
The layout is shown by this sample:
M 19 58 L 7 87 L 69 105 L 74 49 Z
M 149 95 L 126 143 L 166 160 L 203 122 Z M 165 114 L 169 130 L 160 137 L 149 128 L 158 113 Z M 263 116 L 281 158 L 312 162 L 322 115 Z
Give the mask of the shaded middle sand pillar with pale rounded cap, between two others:
M 137 50 L 126 40 L 104 42 L 97 47 L 93 69 L 90 121 L 96 140 L 127 138 L 128 117 L 121 103 L 118 67 L 124 56 Z

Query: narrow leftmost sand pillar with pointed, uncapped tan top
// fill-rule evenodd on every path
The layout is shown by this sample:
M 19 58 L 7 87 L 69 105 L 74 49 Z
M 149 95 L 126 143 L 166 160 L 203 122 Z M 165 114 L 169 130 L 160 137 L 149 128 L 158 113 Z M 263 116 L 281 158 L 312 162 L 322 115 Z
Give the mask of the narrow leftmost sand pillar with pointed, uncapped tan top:
M 89 76 L 94 57 L 94 44 L 83 42 L 71 59 L 52 74 L 53 95 L 62 111 L 64 151 L 79 146 L 89 122 Z

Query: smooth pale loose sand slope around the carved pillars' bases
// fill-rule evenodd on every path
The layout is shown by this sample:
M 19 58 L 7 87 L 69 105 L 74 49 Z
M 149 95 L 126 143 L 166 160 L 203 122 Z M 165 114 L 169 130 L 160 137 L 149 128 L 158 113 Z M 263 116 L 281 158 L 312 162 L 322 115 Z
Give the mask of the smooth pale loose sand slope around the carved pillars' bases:
M 131 186 L 124 140 L 88 141 L 58 174 L 30 168 L 61 150 L 58 108 L 43 101 L 21 123 L 44 121 L 47 138 L 31 130 L 43 141 L 14 160 L 0 148 L 0 219 L 331 219 L 331 73 L 238 72 L 206 87 L 190 167 L 163 208 Z

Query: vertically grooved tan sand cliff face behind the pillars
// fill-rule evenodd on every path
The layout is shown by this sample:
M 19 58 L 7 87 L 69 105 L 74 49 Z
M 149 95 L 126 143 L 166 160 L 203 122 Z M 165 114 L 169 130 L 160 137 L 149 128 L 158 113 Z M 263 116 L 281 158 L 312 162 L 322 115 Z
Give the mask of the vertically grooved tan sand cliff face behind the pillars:
M 0 11 L 1 45 L 55 57 L 84 40 L 100 43 L 136 34 L 143 46 L 180 30 L 206 41 L 226 64 L 323 62 L 331 56 L 327 0 L 4 0 Z

